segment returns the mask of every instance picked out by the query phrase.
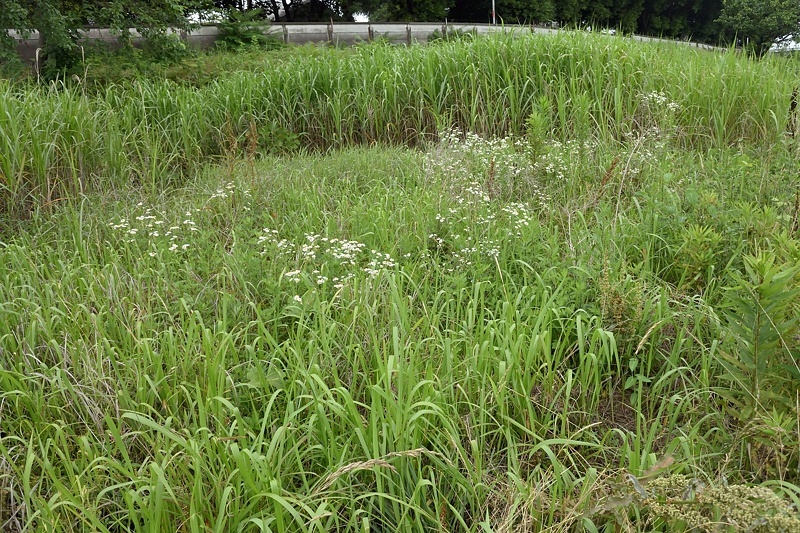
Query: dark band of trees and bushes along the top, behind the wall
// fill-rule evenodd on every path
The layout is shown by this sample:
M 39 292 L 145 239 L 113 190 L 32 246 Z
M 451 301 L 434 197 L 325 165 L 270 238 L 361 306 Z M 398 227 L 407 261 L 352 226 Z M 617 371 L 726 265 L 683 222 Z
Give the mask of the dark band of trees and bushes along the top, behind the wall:
M 241 25 L 242 17 L 328 22 L 352 21 L 356 13 L 367 14 L 373 22 L 557 22 L 569 28 L 612 28 L 743 45 L 759 56 L 800 26 L 800 4 L 793 0 L 6 0 L 0 28 L 23 34 L 38 30 L 40 74 L 51 79 L 75 74 L 84 52 L 80 30 L 86 26 L 109 28 L 126 47 L 131 46 L 129 29 L 136 28 L 147 47 L 169 59 L 186 52 L 185 43 L 171 30 L 190 29 L 209 16 L 217 23 L 220 17 L 228 18 L 221 24 L 230 26 Z M 15 47 L 15 40 L 0 31 L 0 76 L 10 70 L 7 64 L 20 64 Z

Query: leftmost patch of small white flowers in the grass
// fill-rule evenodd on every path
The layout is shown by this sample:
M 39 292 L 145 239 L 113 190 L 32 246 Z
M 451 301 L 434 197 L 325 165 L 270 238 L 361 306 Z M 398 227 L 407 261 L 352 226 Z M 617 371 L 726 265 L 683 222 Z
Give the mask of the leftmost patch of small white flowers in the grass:
M 120 218 L 108 224 L 119 232 L 124 242 L 143 245 L 149 250 L 150 257 L 158 255 L 158 250 L 179 252 L 189 249 L 188 234 L 198 231 L 192 212 L 187 211 L 180 222 L 169 222 L 165 215 L 157 214 L 152 207 L 145 207 L 143 202 L 136 207 L 138 214 L 130 219 Z

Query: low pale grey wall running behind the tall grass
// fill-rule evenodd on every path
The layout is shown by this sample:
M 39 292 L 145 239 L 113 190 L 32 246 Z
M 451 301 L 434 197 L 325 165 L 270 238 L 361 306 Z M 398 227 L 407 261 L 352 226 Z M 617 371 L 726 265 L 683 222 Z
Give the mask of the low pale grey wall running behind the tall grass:
M 495 26 L 491 24 L 470 24 L 470 23 L 447 23 L 437 22 L 409 22 L 409 23 L 370 23 L 370 22 L 333 22 L 321 24 L 306 23 L 273 23 L 268 33 L 274 35 L 285 43 L 303 44 L 309 42 L 328 42 L 331 44 L 355 44 L 368 42 L 376 39 L 384 39 L 391 43 L 412 44 L 414 42 L 426 42 L 428 37 L 435 31 L 446 35 L 449 31 L 460 30 L 475 32 L 479 35 L 494 32 L 510 33 L 557 33 L 558 30 L 544 26 Z M 131 29 L 132 40 L 134 43 L 141 41 L 139 33 Z M 169 30 L 170 33 L 180 35 L 181 39 L 187 44 L 196 48 L 211 48 L 217 40 L 219 30 L 216 26 L 201 26 L 192 31 Z M 17 52 L 23 59 L 33 60 L 36 49 L 41 47 L 38 32 L 32 32 L 27 38 L 22 34 L 8 30 L 8 33 L 17 40 Z M 88 28 L 81 30 L 84 41 L 101 41 L 111 46 L 117 43 L 117 35 L 104 28 Z M 645 42 L 668 42 L 680 43 L 696 48 L 714 50 L 716 47 L 692 43 L 689 41 L 670 41 L 655 37 L 632 36 L 631 38 Z

